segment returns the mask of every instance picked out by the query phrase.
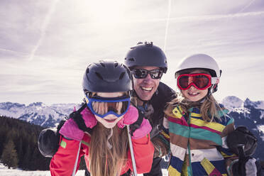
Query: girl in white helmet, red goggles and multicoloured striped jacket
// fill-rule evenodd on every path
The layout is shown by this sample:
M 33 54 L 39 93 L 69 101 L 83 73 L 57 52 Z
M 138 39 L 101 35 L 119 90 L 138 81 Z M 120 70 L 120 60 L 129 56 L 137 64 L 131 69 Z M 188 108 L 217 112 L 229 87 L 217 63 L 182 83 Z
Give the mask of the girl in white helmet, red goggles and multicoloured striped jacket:
M 226 136 L 234 131 L 234 120 L 212 95 L 220 76 L 209 55 L 191 55 L 178 65 L 180 96 L 165 109 L 161 133 L 170 143 L 170 176 L 232 175 L 237 156 L 226 145 Z

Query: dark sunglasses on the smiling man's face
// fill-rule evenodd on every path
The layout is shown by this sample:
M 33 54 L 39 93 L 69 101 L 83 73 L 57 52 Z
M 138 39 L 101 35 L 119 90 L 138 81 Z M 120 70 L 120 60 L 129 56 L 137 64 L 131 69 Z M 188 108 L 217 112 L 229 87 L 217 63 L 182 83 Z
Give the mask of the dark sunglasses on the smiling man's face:
M 145 70 L 145 69 L 135 69 L 132 70 L 134 77 L 137 79 L 143 79 L 150 75 L 152 79 L 160 79 L 163 76 L 163 70 L 155 69 L 155 70 Z

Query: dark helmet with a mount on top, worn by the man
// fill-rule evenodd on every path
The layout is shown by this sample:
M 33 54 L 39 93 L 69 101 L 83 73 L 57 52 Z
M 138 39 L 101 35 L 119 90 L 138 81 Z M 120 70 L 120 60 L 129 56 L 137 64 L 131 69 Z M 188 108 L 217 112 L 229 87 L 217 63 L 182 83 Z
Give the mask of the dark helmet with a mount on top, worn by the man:
M 125 57 L 125 65 L 130 69 L 135 66 L 160 67 L 167 72 L 167 58 L 163 50 L 153 42 L 139 42 L 131 47 Z

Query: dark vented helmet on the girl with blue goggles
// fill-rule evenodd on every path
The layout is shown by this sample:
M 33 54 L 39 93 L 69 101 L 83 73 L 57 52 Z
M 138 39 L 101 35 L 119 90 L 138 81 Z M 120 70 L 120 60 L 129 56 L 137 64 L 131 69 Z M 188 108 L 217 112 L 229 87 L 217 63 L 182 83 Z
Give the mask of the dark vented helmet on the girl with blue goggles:
M 87 92 L 127 92 L 132 90 L 131 73 L 126 67 L 114 60 L 100 60 L 88 65 L 82 89 Z

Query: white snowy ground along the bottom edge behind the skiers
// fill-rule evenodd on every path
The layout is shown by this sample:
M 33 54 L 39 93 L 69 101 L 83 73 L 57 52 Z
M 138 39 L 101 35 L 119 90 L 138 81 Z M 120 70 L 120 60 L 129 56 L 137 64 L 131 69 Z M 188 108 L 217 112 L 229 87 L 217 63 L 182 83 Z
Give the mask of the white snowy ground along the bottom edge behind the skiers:
M 84 170 L 78 170 L 75 176 L 84 176 Z M 50 171 L 25 171 L 19 169 L 8 169 L 2 163 L 0 163 L 0 176 L 50 176 Z M 163 175 L 167 176 L 167 170 L 163 170 Z M 138 176 L 143 176 L 139 174 Z

